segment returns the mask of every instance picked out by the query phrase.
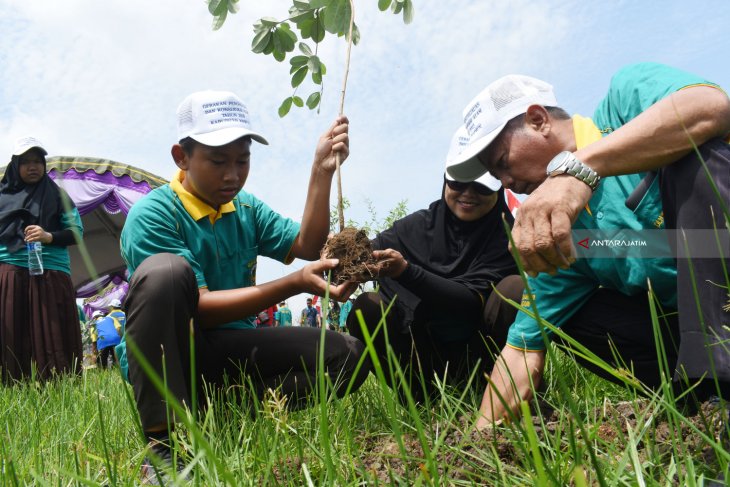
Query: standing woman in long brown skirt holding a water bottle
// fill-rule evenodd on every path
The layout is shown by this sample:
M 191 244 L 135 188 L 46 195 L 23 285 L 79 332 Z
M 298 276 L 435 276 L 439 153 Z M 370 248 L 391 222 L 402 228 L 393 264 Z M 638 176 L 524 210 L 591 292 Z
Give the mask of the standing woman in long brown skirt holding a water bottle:
M 0 180 L 0 368 L 4 381 L 78 372 L 81 330 L 66 247 L 81 238 L 79 212 L 46 174 L 47 152 L 19 139 Z M 41 275 L 26 243 L 41 242 Z

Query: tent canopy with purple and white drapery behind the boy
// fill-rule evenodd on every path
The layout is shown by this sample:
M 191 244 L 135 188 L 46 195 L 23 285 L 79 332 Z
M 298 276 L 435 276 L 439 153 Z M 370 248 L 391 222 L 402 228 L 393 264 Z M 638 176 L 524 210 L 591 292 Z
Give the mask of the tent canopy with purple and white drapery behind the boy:
M 116 286 L 122 281 L 126 284 L 119 235 L 127 213 L 142 196 L 167 181 L 107 159 L 49 157 L 46 168 L 76 204 L 84 225 L 82 245 L 68 248 L 71 280 L 78 296 L 89 297 L 102 288 L 107 292 L 105 286 L 117 278 Z

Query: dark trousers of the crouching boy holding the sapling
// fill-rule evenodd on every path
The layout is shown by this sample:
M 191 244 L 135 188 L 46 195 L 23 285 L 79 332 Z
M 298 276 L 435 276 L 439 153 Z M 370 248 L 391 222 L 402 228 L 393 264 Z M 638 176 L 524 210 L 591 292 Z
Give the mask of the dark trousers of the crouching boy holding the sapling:
M 190 328 L 193 328 L 196 371 L 209 386 L 250 381 L 259 394 L 280 388 L 292 407 L 306 405 L 316 384 L 320 330 L 311 328 L 203 329 L 194 322 L 198 288 L 188 262 L 172 254 L 147 258 L 135 270 L 125 307 L 127 338 L 141 349 L 162 376 L 163 353 L 167 387 L 178 401 L 191 404 Z M 356 390 L 368 374 L 367 363 L 355 376 L 364 351 L 358 340 L 325 332 L 325 373 L 344 394 Z M 166 405 L 140 367 L 127 353 L 129 378 L 146 431 L 167 422 Z M 226 379 L 227 378 L 227 379 Z

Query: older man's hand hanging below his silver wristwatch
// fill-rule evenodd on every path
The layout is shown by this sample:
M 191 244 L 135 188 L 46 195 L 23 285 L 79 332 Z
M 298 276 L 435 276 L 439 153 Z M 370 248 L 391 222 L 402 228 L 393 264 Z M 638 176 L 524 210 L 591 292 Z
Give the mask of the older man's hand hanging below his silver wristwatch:
M 593 191 L 573 176 L 547 178 L 520 206 L 512 238 L 531 276 L 554 274 L 575 261 L 571 227 Z

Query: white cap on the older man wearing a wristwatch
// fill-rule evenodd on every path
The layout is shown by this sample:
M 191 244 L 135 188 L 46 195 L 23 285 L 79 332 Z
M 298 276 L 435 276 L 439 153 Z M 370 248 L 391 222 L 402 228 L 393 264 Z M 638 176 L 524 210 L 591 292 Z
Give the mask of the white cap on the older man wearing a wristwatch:
M 530 105 L 557 104 L 552 85 L 539 79 L 510 74 L 494 81 L 464 109 L 469 143 L 452 161 L 449 175 L 457 181 L 475 180 L 487 170 L 477 155 L 497 138 L 507 122 L 524 114 Z

